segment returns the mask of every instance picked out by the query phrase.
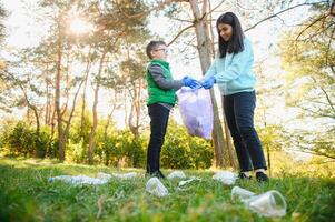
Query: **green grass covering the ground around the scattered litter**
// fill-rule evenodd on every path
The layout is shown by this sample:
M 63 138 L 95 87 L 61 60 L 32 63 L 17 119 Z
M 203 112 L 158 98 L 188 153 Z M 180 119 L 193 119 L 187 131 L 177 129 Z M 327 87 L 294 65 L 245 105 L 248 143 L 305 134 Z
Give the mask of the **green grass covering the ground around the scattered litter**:
M 302 165 L 296 165 L 302 168 Z M 334 172 L 334 168 L 332 168 Z M 126 171 L 142 170 L 122 169 Z M 65 164 L 52 161 L 0 158 L 0 221 L 334 221 L 335 180 L 326 172 L 277 172 L 267 184 L 237 185 L 262 193 L 277 190 L 287 202 L 284 218 L 262 218 L 230 200 L 231 186 L 211 179 L 211 171 L 184 171 L 198 175 L 185 190 L 178 180 L 162 180 L 170 195 L 156 198 L 145 191 L 148 179 L 111 180 L 105 185 L 71 186 L 49 183 L 61 174 L 119 172 L 118 169 Z M 170 171 L 164 171 L 168 174 Z

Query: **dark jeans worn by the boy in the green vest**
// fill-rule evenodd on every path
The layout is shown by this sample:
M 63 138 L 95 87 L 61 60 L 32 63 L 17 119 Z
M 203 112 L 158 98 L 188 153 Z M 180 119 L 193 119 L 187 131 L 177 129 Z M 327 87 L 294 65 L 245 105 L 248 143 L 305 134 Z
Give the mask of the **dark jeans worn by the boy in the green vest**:
M 147 152 L 147 173 L 152 173 L 160 169 L 160 150 L 164 143 L 170 111 L 158 103 L 148 105 L 148 110 L 151 134 Z

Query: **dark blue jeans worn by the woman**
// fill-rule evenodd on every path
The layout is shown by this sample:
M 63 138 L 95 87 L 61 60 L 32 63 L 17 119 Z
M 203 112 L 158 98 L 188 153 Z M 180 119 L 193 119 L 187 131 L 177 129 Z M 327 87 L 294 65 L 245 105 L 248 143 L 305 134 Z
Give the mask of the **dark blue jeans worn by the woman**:
M 240 171 L 267 169 L 262 144 L 254 128 L 255 91 L 224 95 L 223 103 Z

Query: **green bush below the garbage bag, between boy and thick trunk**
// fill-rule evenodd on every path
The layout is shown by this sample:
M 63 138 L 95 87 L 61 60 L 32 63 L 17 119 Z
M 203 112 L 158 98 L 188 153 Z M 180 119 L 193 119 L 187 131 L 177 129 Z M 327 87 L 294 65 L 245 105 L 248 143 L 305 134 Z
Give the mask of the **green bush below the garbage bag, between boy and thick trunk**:
M 190 137 L 186 129 L 171 121 L 161 150 L 161 165 L 169 169 L 207 169 L 214 152 L 210 142 Z

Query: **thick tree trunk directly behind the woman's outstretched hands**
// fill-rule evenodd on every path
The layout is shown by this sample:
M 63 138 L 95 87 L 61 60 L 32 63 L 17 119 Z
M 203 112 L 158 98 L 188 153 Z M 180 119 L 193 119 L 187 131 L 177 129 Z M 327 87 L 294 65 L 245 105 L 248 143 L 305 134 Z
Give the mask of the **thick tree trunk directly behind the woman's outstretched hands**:
M 210 67 L 210 49 L 211 42 L 209 39 L 208 24 L 203 20 L 203 16 L 206 12 L 200 13 L 199 3 L 197 0 L 189 1 L 193 14 L 194 14 L 194 23 L 197 37 L 197 48 L 200 58 L 201 71 L 205 74 L 208 68 Z M 214 113 L 214 129 L 213 129 L 213 140 L 215 148 L 215 158 L 216 158 L 216 167 L 223 168 L 225 167 L 224 159 L 224 150 L 225 150 L 225 141 L 224 141 L 224 132 L 219 120 L 218 107 L 215 99 L 215 94 L 213 89 L 210 90 L 211 103 L 213 103 L 213 113 Z

